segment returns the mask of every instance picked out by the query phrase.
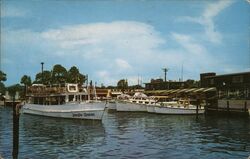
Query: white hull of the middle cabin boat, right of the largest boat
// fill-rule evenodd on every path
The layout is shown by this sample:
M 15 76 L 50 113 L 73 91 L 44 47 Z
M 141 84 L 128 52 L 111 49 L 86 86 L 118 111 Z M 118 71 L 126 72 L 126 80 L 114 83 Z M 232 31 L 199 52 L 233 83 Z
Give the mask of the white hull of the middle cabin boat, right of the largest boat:
M 133 112 L 147 112 L 147 106 L 144 104 L 136 104 L 126 101 L 118 101 L 116 103 L 117 111 L 133 111 Z

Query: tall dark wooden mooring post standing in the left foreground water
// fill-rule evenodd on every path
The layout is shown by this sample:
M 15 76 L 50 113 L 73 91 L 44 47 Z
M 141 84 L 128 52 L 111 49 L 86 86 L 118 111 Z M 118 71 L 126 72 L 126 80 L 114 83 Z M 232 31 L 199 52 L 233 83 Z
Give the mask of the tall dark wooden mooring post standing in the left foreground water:
M 19 147 L 19 107 L 20 105 L 15 105 L 15 97 L 13 97 L 13 159 L 18 158 L 18 147 Z

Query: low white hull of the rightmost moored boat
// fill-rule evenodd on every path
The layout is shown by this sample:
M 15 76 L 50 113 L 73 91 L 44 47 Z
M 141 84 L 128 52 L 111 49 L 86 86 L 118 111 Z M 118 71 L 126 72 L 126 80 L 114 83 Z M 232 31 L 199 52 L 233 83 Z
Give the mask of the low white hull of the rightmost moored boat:
M 205 110 L 204 109 L 198 109 L 198 114 L 204 114 Z M 190 114 L 190 115 L 195 115 L 196 114 L 196 109 L 194 108 L 176 108 L 176 107 L 160 107 L 160 106 L 155 106 L 155 113 L 158 114 L 180 114 L 180 115 L 185 115 L 185 114 Z

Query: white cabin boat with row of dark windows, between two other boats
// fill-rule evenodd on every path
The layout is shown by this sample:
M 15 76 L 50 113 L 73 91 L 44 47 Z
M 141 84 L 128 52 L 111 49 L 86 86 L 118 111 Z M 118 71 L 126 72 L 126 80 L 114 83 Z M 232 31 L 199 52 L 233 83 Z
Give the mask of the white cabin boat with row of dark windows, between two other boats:
M 147 97 L 145 94 L 137 92 L 133 97 L 127 99 L 120 99 L 116 102 L 117 111 L 135 111 L 135 112 L 147 112 L 147 105 L 152 105 L 155 100 Z

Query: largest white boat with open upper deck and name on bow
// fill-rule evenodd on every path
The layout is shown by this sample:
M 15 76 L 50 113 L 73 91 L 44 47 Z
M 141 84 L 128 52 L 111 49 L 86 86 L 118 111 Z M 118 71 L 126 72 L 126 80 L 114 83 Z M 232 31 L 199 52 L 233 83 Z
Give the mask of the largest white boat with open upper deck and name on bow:
M 63 87 L 34 85 L 28 96 L 28 103 L 22 107 L 26 114 L 101 120 L 105 111 L 105 102 L 89 100 L 86 89 L 79 89 L 77 84 Z

